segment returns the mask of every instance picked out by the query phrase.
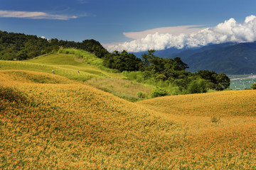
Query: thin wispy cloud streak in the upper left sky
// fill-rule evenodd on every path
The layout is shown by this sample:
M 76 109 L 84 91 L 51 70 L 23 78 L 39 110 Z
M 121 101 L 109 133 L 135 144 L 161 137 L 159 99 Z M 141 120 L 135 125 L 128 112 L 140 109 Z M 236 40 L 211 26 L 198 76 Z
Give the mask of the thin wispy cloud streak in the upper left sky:
M 44 12 L 28 12 L 28 11 L 3 11 L 0 10 L 1 18 L 31 18 L 31 19 L 54 19 L 68 20 L 78 18 L 78 16 L 52 15 Z

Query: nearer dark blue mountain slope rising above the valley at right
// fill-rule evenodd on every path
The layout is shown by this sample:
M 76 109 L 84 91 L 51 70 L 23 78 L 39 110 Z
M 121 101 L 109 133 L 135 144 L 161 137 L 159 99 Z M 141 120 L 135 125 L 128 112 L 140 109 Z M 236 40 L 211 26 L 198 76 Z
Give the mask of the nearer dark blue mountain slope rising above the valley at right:
M 190 72 L 209 69 L 225 74 L 256 74 L 256 42 L 215 47 L 190 56 L 176 55 L 188 64 Z

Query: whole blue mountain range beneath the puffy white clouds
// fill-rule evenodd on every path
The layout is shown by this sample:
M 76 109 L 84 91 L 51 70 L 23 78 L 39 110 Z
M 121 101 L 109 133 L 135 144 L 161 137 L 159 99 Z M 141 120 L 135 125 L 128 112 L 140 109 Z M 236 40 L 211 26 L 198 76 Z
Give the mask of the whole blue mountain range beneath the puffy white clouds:
M 145 52 L 134 55 L 140 57 Z M 154 55 L 163 58 L 181 57 L 189 72 L 208 69 L 225 74 L 256 74 L 256 41 L 223 43 L 196 48 L 169 48 Z

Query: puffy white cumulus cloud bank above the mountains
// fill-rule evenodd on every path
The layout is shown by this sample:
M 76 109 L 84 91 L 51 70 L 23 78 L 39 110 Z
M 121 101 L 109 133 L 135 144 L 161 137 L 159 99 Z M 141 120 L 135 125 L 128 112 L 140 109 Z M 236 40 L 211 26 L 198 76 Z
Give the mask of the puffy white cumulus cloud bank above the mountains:
M 247 16 L 244 23 L 238 23 L 230 18 L 224 23 L 219 23 L 212 28 L 204 28 L 197 33 L 154 33 L 144 38 L 123 42 L 119 44 L 105 45 L 109 51 L 140 52 L 150 49 L 164 50 L 170 47 L 181 49 L 183 47 L 200 47 L 210 43 L 224 42 L 252 42 L 256 40 L 256 16 Z

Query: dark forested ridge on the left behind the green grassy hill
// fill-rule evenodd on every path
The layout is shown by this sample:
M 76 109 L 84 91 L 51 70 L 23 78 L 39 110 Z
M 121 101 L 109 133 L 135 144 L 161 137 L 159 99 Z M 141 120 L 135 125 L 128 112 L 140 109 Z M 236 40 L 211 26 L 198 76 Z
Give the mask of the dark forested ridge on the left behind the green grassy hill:
M 27 60 L 38 55 L 57 52 L 59 48 L 76 48 L 91 52 L 97 57 L 104 57 L 109 52 L 96 40 L 82 42 L 58 39 L 46 40 L 36 35 L 7 33 L 0 31 L 0 60 Z

